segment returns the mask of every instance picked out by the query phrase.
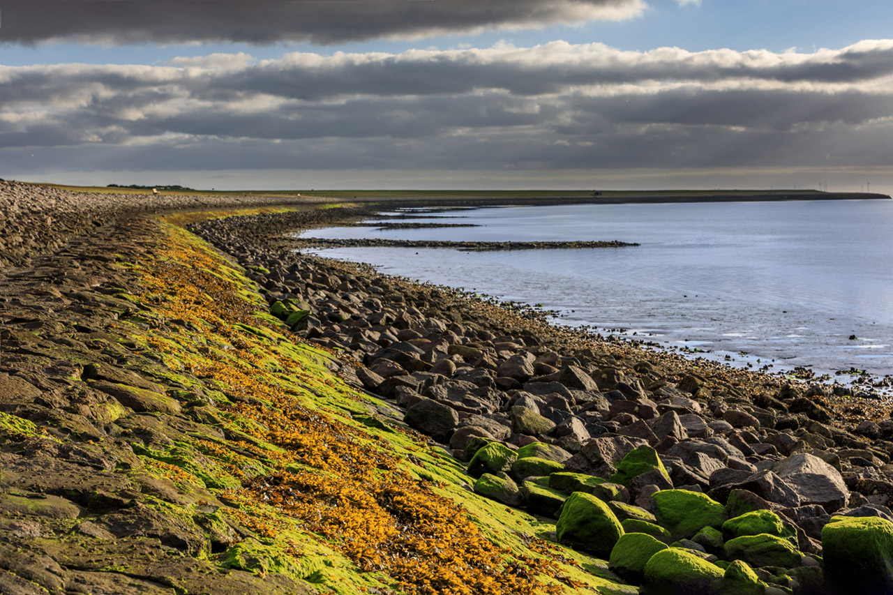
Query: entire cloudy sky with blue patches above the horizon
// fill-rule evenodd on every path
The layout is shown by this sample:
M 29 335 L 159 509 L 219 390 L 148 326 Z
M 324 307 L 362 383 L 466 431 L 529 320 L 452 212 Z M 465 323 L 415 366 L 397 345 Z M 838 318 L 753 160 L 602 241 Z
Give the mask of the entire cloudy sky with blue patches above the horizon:
M 889 0 L 0 0 L 0 177 L 893 191 Z

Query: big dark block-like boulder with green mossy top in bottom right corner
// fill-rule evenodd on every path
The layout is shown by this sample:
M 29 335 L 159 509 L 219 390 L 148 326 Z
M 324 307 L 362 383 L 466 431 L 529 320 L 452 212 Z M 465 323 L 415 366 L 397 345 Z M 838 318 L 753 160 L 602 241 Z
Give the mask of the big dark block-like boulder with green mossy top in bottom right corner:
M 876 516 L 833 516 L 822 529 L 825 579 L 837 593 L 893 592 L 893 523 Z

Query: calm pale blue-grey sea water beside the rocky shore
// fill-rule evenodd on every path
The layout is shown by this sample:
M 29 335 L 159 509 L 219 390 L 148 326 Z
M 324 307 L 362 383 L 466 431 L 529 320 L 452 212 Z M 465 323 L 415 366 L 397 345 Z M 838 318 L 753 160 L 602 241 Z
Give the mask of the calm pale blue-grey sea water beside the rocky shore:
M 638 242 L 578 250 L 318 253 L 541 304 L 558 311 L 560 323 L 635 333 L 737 365 L 893 373 L 893 200 L 504 206 L 447 215 L 456 218 L 418 221 L 480 227 L 331 228 L 308 235 Z

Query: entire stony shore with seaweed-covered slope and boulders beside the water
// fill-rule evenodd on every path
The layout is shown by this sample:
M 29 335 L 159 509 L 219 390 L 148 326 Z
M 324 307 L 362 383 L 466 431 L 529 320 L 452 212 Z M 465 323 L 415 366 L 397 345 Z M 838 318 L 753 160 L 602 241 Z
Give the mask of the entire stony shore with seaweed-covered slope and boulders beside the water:
M 877 399 L 286 252 L 374 206 L 9 188 L 0 592 L 893 583 Z

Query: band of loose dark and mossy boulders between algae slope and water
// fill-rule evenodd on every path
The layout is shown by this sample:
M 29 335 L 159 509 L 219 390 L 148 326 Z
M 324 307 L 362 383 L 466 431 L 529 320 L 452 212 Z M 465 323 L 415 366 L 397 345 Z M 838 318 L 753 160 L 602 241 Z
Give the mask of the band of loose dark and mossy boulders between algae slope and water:
M 255 223 L 249 243 L 238 220 L 197 230 L 254 272 L 272 314 L 464 461 L 475 492 L 553 519 L 553 540 L 641 592 L 893 591 L 883 405 L 283 256 Z

